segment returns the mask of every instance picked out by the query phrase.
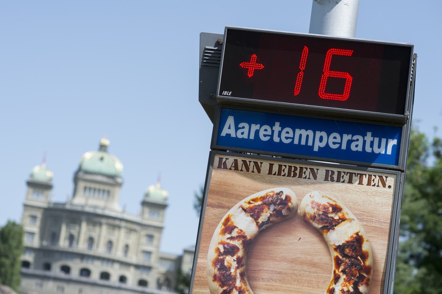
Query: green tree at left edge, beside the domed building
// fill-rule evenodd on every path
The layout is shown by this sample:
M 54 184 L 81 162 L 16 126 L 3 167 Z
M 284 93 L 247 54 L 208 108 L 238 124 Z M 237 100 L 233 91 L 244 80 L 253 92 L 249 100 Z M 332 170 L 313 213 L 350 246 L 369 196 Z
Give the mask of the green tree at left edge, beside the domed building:
M 23 227 L 13 221 L 0 229 L 0 284 L 18 290 L 20 256 L 23 252 Z

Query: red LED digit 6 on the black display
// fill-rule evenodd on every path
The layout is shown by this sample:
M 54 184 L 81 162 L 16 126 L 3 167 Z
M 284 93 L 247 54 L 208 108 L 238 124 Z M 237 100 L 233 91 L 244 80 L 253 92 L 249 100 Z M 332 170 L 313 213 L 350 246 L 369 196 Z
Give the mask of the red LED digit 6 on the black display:
M 319 84 L 319 97 L 322 99 L 340 101 L 345 101 L 348 99 L 348 96 L 350 96 L 351 82 L 353 80 L 352 76 L 348 72 L 330 70 L 330 64 L 332 63 L 333 55 L 351 56 L 352 54 L 353 50 L 336 48 L 332 48 L 327 52 L 326 60 L 324 62 L 324 74 L 322 75 L 321 82 Z M 345 79 L 344 92 L 342 94 L 326 93 L 327 79 L 329 77 Z

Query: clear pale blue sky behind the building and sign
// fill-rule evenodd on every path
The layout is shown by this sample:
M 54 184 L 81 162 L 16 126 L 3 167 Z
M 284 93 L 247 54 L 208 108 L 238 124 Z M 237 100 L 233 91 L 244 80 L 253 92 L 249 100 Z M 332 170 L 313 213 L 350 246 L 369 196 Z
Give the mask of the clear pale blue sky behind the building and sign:
M 193 245 L 212 124 L 198 103 L 199 33 L 225 26 L 307 33 L 312 1 L 2 1 L 0 225 L 20 221 L 26 180 L 46 154 L 53 196 L 72 195 L 81 156 L 124 165 L 120 204 L 138 213 L 161 175 L 169 191 L 162 251 Z M 442 121 L 440 2 L 360 1 L 356 37 L 415 44 L 413 123 Z M 437 133 L 439 136 L 440 131 Z

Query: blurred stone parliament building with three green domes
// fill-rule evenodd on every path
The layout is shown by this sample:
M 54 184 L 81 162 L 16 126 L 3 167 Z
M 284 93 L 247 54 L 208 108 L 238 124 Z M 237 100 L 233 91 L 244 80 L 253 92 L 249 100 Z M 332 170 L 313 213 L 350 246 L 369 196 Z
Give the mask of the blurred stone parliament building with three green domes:
M 159 181 L 147 188 L 140 215 L 119 207 L 123 164 L 108 146 L 101 139 L 82 156 L 65 203 L 51 200 L 46 164 L 32 169 L 21 220 L 22 293 L 167 293 L 178 268 L 191 268 L 192 249 L 183 256 L 159 251 L 168 200 Z

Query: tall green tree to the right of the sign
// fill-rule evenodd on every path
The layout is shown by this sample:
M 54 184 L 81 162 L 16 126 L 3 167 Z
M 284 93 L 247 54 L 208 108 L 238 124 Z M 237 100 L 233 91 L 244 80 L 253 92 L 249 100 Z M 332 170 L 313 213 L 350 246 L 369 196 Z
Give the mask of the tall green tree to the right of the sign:
M 442 140 L 413 130 L 400 216 L 394 293 L 442 289 Z

